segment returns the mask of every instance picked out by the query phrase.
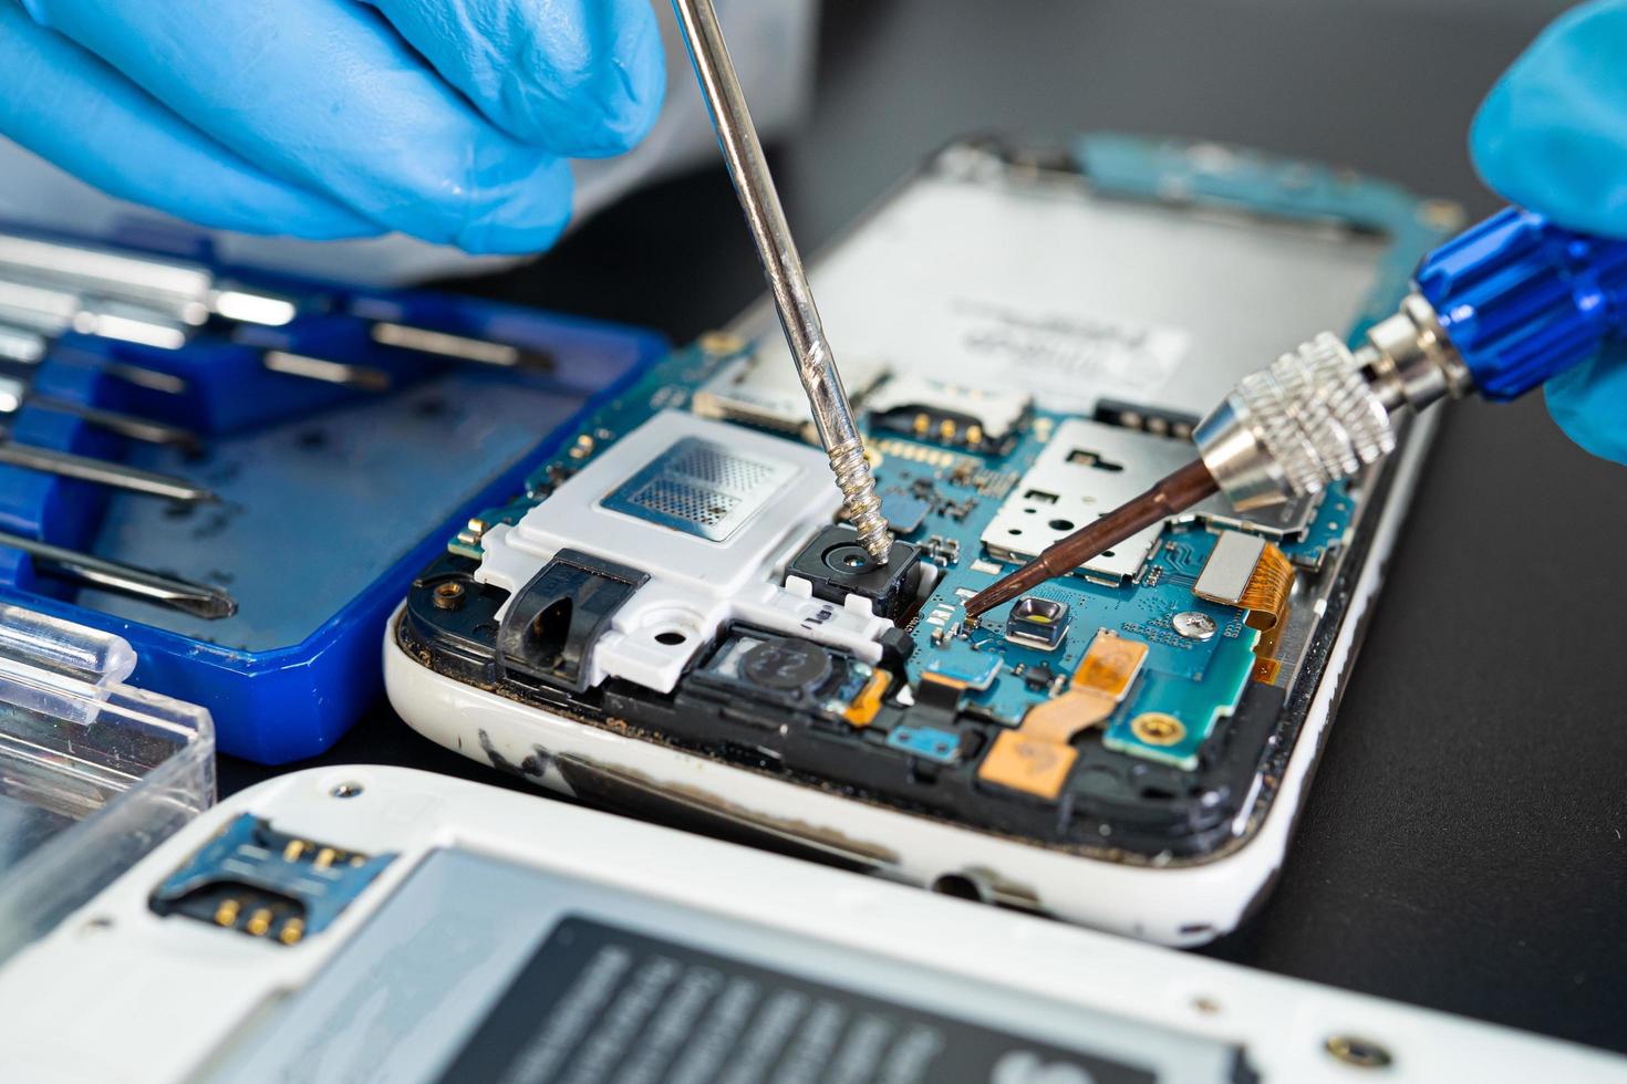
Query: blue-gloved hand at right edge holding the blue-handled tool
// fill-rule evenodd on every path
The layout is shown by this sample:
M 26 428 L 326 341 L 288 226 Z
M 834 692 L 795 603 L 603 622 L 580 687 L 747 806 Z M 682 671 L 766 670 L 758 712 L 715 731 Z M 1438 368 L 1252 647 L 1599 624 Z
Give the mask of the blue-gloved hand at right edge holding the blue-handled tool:
M 1568 11 L 1515 62 L 1469 135 L 1481 177 L 1555 223 L 1627 237 L 1627 0 Z M 1547 385 L 1570 439 L 1627 463 L 1627 348 Z

